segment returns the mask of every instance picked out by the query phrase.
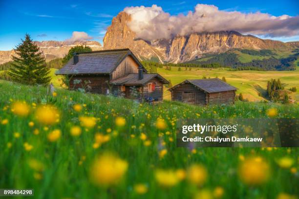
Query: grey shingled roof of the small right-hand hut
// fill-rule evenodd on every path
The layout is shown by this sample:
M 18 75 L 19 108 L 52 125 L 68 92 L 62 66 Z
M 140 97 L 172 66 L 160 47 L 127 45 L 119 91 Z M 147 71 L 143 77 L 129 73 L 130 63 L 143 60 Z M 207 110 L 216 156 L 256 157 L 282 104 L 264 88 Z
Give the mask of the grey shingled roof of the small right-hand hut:
M 207 93 L 217 93 L 224 91 L 234 91 L 237 90 L 236 87 L 231 86 L 230 84 L 219 80 L 218 78 L 213 79 L 202 79 L 202 80 L 185 80 L 182 83 L 179 83 L 168 90 L 172 90 L 183 83 L 192 83 L 194 86 L 206 91 Z

